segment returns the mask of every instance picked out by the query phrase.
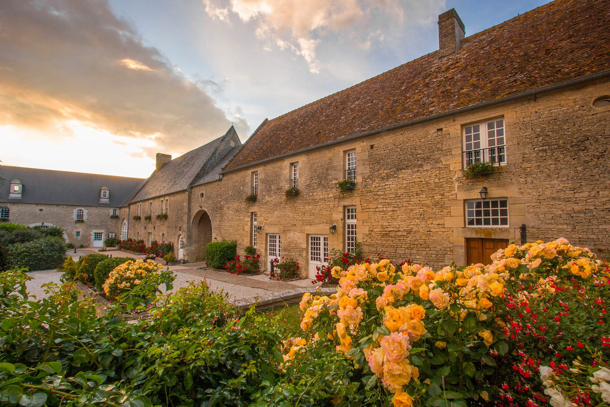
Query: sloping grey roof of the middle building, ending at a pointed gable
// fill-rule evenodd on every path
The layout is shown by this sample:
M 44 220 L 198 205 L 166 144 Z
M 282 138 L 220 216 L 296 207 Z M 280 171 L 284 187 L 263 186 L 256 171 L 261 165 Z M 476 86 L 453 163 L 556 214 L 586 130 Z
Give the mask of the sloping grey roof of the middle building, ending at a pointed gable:
M 235 128 L 231 126 L 218 139 L 165 163 L 159 171 L 152 173 L 131 202 L 186 190 L 193 182 L 210 173 L 229 151 L 241 144 Z

